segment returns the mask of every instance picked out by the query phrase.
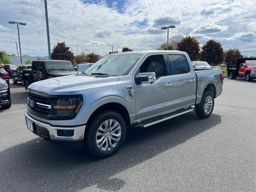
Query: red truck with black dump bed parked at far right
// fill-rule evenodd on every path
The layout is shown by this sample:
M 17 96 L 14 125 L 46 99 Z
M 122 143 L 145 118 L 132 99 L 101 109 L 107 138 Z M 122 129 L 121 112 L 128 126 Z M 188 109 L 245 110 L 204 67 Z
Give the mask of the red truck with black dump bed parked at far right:
M 245 77 L 246 81 L 256 79 L 256 58 L 238 58 L 236 65 L 227 65 L 228 76 L 230 79 Z

